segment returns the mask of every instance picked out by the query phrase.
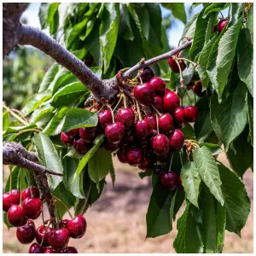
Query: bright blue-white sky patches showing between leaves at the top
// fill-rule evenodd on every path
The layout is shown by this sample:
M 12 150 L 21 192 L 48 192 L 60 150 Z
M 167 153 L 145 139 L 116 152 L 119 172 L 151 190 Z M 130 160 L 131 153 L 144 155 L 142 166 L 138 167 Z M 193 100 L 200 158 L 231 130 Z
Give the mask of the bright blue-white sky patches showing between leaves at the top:
M 193 9 L 193 12 L 191 15 L 189 15 L 189 8 L 192 3 L 185 3 L 185 9 L 187 13 L 188 20 L 191 18 L 191 16 L 195 15 L 196 13 L 200 12 L 202 9 L 202 6 L 197 6 L 195 9 Z M 40 28 L 40 22 L 38 18 L 38 10 L 40 7 L 40 3 L 31 3 L 28 9 L 23 13 L 23 17 L 26 18 L 28 21 L 28 25 L 36 26 Z M 161 9 L 162 15 L 166 16 L 168 13 L 170 13 L 170 10 L 167 9 Z M 181 20 L 174 20 L 172 28 L 167 30 L 167 37 L 169 38 L 169 44 L 170 46 L 177 46 L 179 39 L 181 38 L 182 32 L 183 32 L 184 24 Z M 47 32 L 47 31 L 46 31 Z

